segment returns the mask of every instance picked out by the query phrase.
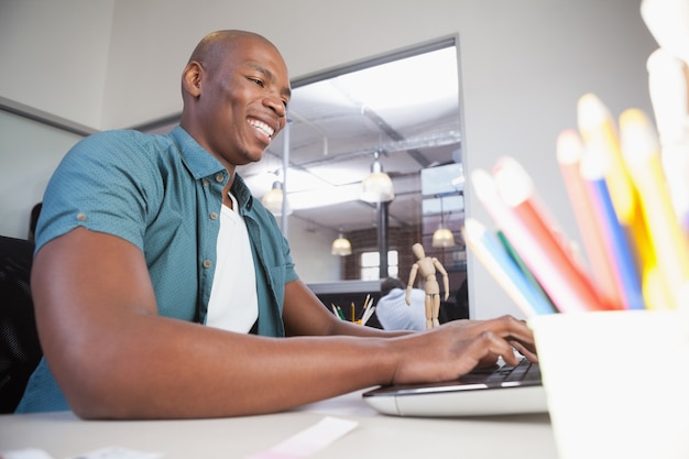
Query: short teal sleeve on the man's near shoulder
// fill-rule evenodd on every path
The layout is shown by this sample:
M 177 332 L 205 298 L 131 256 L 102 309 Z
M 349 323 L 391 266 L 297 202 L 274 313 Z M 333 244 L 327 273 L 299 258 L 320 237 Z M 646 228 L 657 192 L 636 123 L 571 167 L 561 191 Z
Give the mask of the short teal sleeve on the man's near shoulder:
M 143 250 L 147 210 L 162 192 L 139 135 L 94 134 L 65 155 L 45 190 L 36 252 L 77 227 L 120 237 Z

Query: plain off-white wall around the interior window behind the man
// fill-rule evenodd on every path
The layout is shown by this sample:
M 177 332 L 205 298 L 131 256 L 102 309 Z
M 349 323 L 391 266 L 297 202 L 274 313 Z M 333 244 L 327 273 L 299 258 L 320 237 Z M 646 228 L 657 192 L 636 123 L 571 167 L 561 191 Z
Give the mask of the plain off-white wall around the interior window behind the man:
M 500 155 L 515 156 L 571 232 L 554 143 L 561 129 L 575 127 L 577 99 L 594 91 L 614 113 L 650 109 L 645 61 L 656 45 L 632 0 L 0 1 L 0 57 L 4 69 L 13 69 L 0 76 L 0 97 L 100 129 L 178 111 L 181 69 L 196 42 L 215 29 L 266 35 L 282 50 L 292 77 L 459 34 L 466 166 L 490 167 Z M 75 48 L 84 62 L 74 58 Z M 98 87 L 105 88 L 102 106 L 98 95 L 89 99 Z M 68 100 L 56 101 L 65 88 Z M 92 112 L 99 107 L 98 121 Z M 20 152 L 0 154 L 4 162 Z M 488 220 L 472 196 L 467 208 Z M 473 317 L 518 316 L 473 260 Z

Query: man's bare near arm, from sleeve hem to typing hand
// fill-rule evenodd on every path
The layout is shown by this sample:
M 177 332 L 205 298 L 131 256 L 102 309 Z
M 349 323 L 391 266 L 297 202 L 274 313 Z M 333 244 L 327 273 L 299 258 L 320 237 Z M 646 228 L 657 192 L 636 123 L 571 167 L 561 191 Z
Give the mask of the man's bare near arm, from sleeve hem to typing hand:
M 294 335 L 314 326 L 303 329 L 292 315 L 302 287 L 286 287 Z M 510 318 L 390 339 L 281 339 L 160 317 L 140 250 L 86 229 L 40 250 L 32 291 L 51 370 L 75 413 L 88 418 L 276 412 L 375 384 L 457 378 L 486 357 L 510 359 L 508 340 L 533 342 Z M 330 320 L 327 312 L 314 317 Z

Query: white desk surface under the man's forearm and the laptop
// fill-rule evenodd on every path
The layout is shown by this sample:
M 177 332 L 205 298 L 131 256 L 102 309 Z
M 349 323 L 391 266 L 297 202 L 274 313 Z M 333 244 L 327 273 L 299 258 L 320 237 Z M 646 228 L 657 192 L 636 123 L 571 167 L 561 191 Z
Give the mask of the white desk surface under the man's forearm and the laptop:
M 164 459 L 244 458 L 277 445 L 325 416 L 358 427 L 309 458 L 529 458 L 557 457 L 546 414 L 451 419 L 390 417 L 361 392 L 286 413 L 223 419 L 87 422 L 69 412 L 0 416 L 0 451 L 40 448 L 55 459 L 117 446 L 165 452 Z

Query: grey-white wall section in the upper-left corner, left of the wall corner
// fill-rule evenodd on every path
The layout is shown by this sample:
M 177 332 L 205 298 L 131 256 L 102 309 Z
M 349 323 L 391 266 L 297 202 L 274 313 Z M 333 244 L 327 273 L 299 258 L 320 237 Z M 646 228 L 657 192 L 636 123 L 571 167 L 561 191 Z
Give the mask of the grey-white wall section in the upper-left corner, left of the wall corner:
M 101 127 L 112 6 L 113 0 L 0 0 L 0 96 Z

